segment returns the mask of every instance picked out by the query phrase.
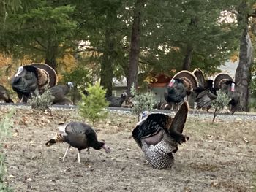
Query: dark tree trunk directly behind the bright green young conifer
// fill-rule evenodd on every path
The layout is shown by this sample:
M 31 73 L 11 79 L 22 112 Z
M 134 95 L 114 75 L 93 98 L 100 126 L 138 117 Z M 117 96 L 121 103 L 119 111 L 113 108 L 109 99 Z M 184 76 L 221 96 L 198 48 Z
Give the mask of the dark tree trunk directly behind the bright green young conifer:
M 105 31 L 105 50 L 102 55 L 100 70 L 100 85 L 107 89 L 106 96 L 112 96 L 113 63 L 114 63 L 115 40 L 113 29 Z

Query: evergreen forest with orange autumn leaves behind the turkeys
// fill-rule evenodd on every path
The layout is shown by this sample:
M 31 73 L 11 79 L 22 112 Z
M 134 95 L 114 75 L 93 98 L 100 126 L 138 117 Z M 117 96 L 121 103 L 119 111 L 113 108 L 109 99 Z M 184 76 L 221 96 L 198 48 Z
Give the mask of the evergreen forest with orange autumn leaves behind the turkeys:
M 18 66 L 43 62 L 84 88 L 113 77 L 145 88 L 158 74 L 200 68 L 207 76 L 238 61 L 241 110 L 255 96 L 255 1 L 1 0 L 0 82 Z M 256 105 L 256 104 L 255 104 Z

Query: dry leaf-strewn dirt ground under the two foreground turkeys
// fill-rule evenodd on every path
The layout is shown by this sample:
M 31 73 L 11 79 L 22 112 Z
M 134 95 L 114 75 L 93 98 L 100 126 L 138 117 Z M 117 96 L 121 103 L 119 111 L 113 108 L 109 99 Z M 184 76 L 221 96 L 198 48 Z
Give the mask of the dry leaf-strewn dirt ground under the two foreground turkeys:
M 0 117 L 8 108 L 0 108 Z M 53 117 L 18 109 L 12 137 L 2 141 L 7 155 L 7 183 L 15 191 L 255 191 L 255 118 L 217 118 L 189 115 L 184 134 L 187 144 L 175 154 L 168 170 L 152 169 L 142 151 L 129 139 L 136 118 L 110 112 L 97 123 L 98 138 L 111 147 L 77 150 L 64 155 L 67 144 L 46 147 L 56 134 L 56 124 L 80 120 L 75 110 L 54 110 Z

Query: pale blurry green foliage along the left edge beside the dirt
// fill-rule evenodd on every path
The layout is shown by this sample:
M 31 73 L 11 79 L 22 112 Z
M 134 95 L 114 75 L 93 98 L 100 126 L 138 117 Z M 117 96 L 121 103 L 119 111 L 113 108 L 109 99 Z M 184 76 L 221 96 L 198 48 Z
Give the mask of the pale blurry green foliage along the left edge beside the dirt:
M 15 110 L 10 110 L 7 115 L 0 122 L 0 140 L 10 135 L 10 128 L 13 126 L 13 120 L 11 119 Z M 0 148 L 3 147 L 0 145 Z M 7 174 L 6 166 L 4 165 L 5 156 L 0 153 L 0 191 L 7 192 L 12 191 L 7 185 L 4 184 L 4 176 Z

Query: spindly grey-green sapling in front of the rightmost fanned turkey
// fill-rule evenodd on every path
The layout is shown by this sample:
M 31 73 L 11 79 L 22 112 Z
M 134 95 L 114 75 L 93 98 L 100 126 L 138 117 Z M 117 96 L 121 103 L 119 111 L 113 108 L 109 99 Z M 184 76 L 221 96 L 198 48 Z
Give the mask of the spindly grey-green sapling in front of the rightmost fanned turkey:
M 219 113 L 220 110 L 223 110 L 224 107 L 227 106 L 229 101 L 230 101 L 230 97 L 227 96 L 227 94 L 224 91 L 222 90 L 217 91 L 217 99 L 215 99 L 211 104 L 211 107 L 214 107 L 214 118 L 212 120 L 212 123 L 214 123 L 217 113 Z

